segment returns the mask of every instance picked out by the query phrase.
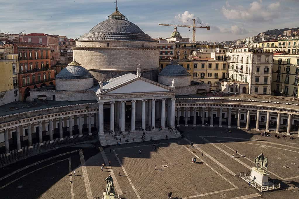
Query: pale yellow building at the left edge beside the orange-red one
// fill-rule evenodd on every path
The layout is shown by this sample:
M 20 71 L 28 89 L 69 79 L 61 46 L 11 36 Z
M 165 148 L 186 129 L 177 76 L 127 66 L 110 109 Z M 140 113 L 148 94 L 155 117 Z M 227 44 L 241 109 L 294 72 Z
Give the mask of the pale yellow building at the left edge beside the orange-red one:
M 19 101 L 17 76 L 19 61 L 18 55 L 11 52 L 11 44 L 0 46 L 0 105 Z

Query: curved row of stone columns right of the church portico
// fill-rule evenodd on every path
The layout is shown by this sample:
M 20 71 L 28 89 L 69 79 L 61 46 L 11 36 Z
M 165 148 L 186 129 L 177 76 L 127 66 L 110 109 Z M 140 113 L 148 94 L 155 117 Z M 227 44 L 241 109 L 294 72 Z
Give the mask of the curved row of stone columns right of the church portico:
M 276 119 L 276 133 L 280 133 L 280 119 L 281 119 L 281 112 L 274 112 L 274 111 L 268 111 L 268 110 L 243 110 L 240 108 L 214 108 L 214 107 L 177 107 L 177 114 L 176 114 L 176 121 L 177 121 L 177 126 L 180 126 L 180 116 L 182 116 L 182 111 L 185 112 L 184 114 L 184 125 L 188 126 L 188 109 L 190 109 L 190 114 L 193 112 L 193 126 L 198 125 L 196 121 L 196 112 L 201 111 L 201 126 L 206 126 L 205 123 L 205 118 L 208 118 L 208 115 L 210 115 L 210 127 L 213 127 L 214 121 L 213 121 L 213 114 L 214 111 L 218 113 L 219 109 L 219 124 L 218 127 L 222 127 L 222 113 L 226 112 L 226 118 L 227 118 L 227 127 L 231 128 L 231 119 L 232 119 L 232 110 L 236 111 L 237 115 L 237 128 L 240 128 L 240 122 L 241 122 L 241 113 L 246 114 L 246 129 L 250 128 L 250 116 L 254 115 L 253 112 L 255 112 L 255 118 L 256 118 L 256 125 L 255 125 L 255 130 L 260 130 L 260 112 L 264 111 L 266 112 L 266 131 L 269 132 L 269 126 L 270 126 L 270 114 L 277 114 L 277 119 Z M 192 110 L 193 109 L 193 110 Z M 205 116 L 206 113 L 206 116 Z M 293 114 L 288 114 L 288 119 L 287 119 L 287 130 L 286 130 L 286 135 L 290 135 L 291 131 L 291 125 L 292 125 L 292 117 Z M 299 136 L 299 129 L 298 129 L 298 136 Z

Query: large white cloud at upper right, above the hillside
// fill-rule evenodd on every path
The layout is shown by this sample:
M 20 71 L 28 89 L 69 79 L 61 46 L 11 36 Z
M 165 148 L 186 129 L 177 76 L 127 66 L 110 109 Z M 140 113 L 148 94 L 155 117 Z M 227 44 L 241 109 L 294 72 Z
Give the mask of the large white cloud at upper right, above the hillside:
M 228 6 L 227 6 L 228 5 Z M 262 1 L 253 1 L 248 9 L 243 6 L 231 6 L 228 2 L 222 7 L 222 13 L 227 19 L 242 19 L 245 21 L 272 21 L 280 15 L 277 8 L 279 2 L 274 2 L 268 6 L 263 5 Z

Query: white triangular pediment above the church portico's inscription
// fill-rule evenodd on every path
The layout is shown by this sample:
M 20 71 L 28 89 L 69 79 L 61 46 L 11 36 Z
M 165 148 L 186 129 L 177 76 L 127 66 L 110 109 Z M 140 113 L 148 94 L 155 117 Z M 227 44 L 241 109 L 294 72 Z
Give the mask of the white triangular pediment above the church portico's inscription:
M 169 89 L 163 88 L 159 85 L 146 82 L 138 79 L 126 85 L 120 86 L 106 94 L 119 94 L 119 93 L 148 93 L 148 92 L 167 92 Z

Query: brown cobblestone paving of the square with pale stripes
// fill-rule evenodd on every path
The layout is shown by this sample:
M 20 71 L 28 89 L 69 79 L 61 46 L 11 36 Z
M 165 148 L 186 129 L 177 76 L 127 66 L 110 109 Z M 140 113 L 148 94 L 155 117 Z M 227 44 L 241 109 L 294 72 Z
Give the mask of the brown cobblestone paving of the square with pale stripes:
M 100 169 L 100 165 L 105 162 L 102 154 L 98 146 L 91 144 L 62 148 L 13 163 L 0 172 L 0 196 L 72 198 L 70 160 L 71 171 L 76 170 L 76 176 L 71 176 L 74 198 L 87 198 L 84 182 L 87 179 L 82 172 L 79 154 L 79 150 L 82 150 L 93 197 L 103 195 L 106 189 L 104 179 L 112 171 L 116 176 L 114 181 L 118 182 L 123 192 L 123 198 L 163 199 L 167 198 L 169 191 L 173 192 L 173 197 L 184 199 L 231 199 L 241 196 L 299 198 L 297 139 L 263 137 L 256 131 L 233 130 L 233 133 L 228 134 L 219 128 L 181 127 L 180 130 L 184 131 L 185 139 L 104 148 L 104 156 L 111 161 L 112 167 L 105 167 L 103 171 Z M 194 142 L 195 147 L 190 147 L 189 141 Z M 233 150 L 236 149 L 244 156 L 232 158 Z M 204 156 L 201 156 L 202 151 Z M 252 161 L 261 152 L 268 157 L 270 177 L 280 182 L 283 189 L 260 193 L 238 177 L 239 172 L 253 167 Z M 191 163 L 191 158 L 195 156 L 198 164 Z M 158 170 L 155 170 L 155 165 Z M 22 170 L 16 171 L 18 169 Z M 117 175 L 118 171 L 121 176 Z M 234 173 L 236 175 L 232 175 Z

